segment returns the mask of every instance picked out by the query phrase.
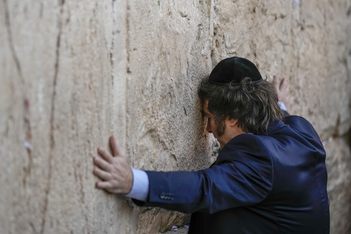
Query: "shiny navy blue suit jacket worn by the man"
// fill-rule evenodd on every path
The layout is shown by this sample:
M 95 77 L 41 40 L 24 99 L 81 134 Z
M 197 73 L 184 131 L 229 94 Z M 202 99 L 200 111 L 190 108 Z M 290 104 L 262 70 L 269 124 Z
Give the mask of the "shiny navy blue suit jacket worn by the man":
M 146 173 L 147 201 L 133 201 L 192 213 L 189 234 L 329 233 L 325 151 L 300 116 L 234 137 L 208 169 Z

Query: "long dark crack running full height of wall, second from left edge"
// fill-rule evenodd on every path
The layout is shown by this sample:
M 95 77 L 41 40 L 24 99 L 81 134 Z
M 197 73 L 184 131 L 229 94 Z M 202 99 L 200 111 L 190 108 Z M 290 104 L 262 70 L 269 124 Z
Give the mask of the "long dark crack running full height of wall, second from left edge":
M 53 79 L 53 88 L 52 88 L 52 96 L 51 96 L 51 114 L 50 114 L 50 132 L 49 132 L 49 139 L 50 139 L 50 149 L 49 149 L 49 173 L 47 179 L 47 186 L 45 189 L 45 202 L 44 202 L 44 210 L 42 214 L 42 221 L 41 221 L 41 229 L 40 233 L 44 233 L 45 229 L 45 222 L 46 222 L 46 213 L 48 208 L 48 196 L 51 187 L 51 175 L 52 175 L 52 158 L 53 158 L 53 151 L 55 147 L 55 139 L 54 139 L 54 116 L 55 116 L 55 98 L 56 98 L 56 85 L 57 85 L 57 76 L 59 71 L 59 57 L 60 57 L 60 41 L 61 41 L 61 34 L 62 34 L 62 22 L 61 16 L 63 12 L 63 5 L 65 4 L 65 0 L 59 0 L 60 6 L 60 13 L 59 13 L 59 20 L 58 20 L 58 35 L 56 41 L 56 49 L 55 49 L 55 65 L 54 65 L 54 79 Z

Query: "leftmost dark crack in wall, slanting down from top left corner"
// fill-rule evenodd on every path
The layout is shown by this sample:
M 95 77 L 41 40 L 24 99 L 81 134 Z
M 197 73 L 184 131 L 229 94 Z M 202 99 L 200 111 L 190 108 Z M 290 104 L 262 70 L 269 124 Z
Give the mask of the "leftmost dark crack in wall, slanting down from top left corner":
M 27 90 L 25 88 L 25 80 L 24 76 L 22 73 L 21 69 L 21 64 L 19 62 L 17 53 L 15 51 L 15 47 L 13 45 L 13 38 L 12 38 L 12 30 L 11 30 L 11 22 L 10 22 L 10 15 L 9 15 L 9 10 L 8 10 L 8 5 L 7 5 L 7 0 L 3 0 L 4 6 L 5 6 L 5 25 L 6 25 L 6 30 L 8 34 L 8 44 L 10 47 L 10 51 L 12 54 L 12 58 L 15 62 L 16 70 L 18 72 L 18 75 L 21 80 L 21 93 L 22 93 L 22 100 L 24 101 L 24 112 L 23 112 L 23 123 L 25 127 L 25 135 L 26 135 L 26 141 L 30 142 L 32 139 L 32 128 L 31 124 L 29 122 L 29 109 L 28 109 L 28 99 L 26 98 L 27 96 Z M 32 168 L 32 152 L 30 148 L 27 148 L 27 155 L 28 155 L 28 166 L 25 169 L 25 175 L 23 178 L 23 184 L 26 187 L 27 184 L 27 178 L 31 174 L 31 168 Z

